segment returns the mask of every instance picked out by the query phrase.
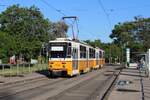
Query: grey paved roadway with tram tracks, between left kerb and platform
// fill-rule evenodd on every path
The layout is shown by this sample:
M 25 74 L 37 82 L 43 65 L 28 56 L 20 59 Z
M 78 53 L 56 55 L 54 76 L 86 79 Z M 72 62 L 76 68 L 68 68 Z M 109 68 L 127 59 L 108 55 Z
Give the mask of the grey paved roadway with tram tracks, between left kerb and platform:
M 73 78 L 43 78 L 0 87 L 2 100 L 99 100 L 119 66 L 107 66 Z

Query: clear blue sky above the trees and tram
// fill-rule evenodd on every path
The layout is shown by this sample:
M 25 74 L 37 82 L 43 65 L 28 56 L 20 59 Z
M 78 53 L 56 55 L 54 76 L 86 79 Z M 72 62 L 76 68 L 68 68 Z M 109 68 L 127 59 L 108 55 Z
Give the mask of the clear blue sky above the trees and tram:
M 0 0 L 0 12 L 13 4 L 35 5 L 52 22 L 64 17 L 58 10 L 66 16 L 77 16 L 78 38 L 100 39 L 104 43 L 112 41 L 109 35 L 119 22 L 133 21 L 135 16 L 150 17 L 150 0 Z M 72 23 L 71 20 L 65 22 Z M 77 34 L 75 25 L 74 28 Z M 72 37 L 71 27 L 67 34 Z

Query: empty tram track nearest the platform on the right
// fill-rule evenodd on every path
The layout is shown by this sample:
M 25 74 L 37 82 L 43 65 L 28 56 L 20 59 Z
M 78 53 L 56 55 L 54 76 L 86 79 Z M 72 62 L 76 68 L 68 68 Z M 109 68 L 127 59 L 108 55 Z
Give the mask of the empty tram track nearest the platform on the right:
M 65 91 L 59 93 L 58 95 L 56 95 L 54 97 L 49 97 L 47 100 L 70 100 L 70 97 L 68 95 L 74 95 L 74 94 L 71 94 L 71 92 L 77 91 L 79 93 L 77 93 L 77 92 L 75 92 L 75 93 L 77 93 L 77 95 L 81 96 L 80 95 L 80 93 L 81 93 L 80 91 L 85 89 L 84 86 L 86 88 L 88 88 L 88 87 L 92 86 L 93 84 L 96 85 L 97 83 L 95 83 L 95 82 L 100 81 L 98 87 L 92 87 L 92 89 L 87 89 L 89 91 L 91 90 L 92 91 L 91 93 L 90 92 L 87 93 L 87 92 L 84 91 L 84 93 L 88 94 L 88 96 L 87 95 L 85 97 L 83 96 L 83 97 L 81 97 L 82 99 L 80 97 L 78 98 L 79 100 L 80 99 L 81 100 L 96 100 L 97 96 L 99 96 L 99 92 L 100 92 L 101 87 L 103 87 L 105 85 L 105 83 L 107 81 L 109 81 L 110 79 L 112 79 L 114 77 L 114 75 L 115 75 L 115 73 L 112 73 L 110 76 L 102 76 L 102 75 L 104 75 L 104 73 L 105 72 L 102 72 L 100 74 L 97 74 L 93 78 L 90 78 L 88 80 L 82 81 L 81 83 L 79 83 L 79 84 L 77 84 L 77 85 L 75 85 L 75 86 L 73 86 L 71 88 L 66 89 Z M 100 75 L 101 75 L 101 77 L 100 77 Z M 96 81 L 94 82 L 94 80 L 96 80 Z M 90 83 L 87 83 L 87 82 L 90 82 Z M 80 89 L 80 88 L 82 88 L 82 89 Z M 76 95 L 75 99 L 72 98 L 71 100 L 76 100 L 77 99 L 77 95 Z M 97 99 L 97 100 L 99 100 L 99 99 Z

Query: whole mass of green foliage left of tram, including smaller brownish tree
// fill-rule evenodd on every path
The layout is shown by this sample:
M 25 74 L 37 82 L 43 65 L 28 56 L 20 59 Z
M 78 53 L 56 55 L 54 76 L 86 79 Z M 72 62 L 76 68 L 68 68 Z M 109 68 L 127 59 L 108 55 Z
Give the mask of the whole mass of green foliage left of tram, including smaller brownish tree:
M 65 35 L 68 29 L 65 23 L 52 23 L 45 19 L 35 6 L 8 7 L 0 14 L 0 24 L 0 58 L 15 54 L 18 58 L 24 57 L 26 61 L 37 58 L 42 44 L 60 37 L 59 34 Z M 56 30 L 57 34 L 52 30 Z

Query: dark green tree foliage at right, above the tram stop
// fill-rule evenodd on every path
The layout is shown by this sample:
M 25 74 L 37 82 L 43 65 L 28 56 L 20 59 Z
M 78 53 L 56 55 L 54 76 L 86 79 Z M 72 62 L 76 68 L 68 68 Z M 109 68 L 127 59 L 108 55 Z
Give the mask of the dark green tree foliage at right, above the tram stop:
M 146 51 L 150 48 L 150 18 L 135 17 L 134 21 L 115 25 L 110 38 L 119 46 Z

